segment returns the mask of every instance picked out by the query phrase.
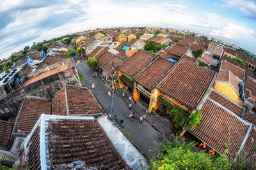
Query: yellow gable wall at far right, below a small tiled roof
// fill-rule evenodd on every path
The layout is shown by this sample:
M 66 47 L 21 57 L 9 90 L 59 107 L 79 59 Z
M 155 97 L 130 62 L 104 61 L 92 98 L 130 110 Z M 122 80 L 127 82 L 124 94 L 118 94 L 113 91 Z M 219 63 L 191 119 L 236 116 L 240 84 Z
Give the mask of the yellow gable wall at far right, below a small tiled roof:
M 221 94 L 228 97 L 232 101 L 243 106 L 243 102 L 240 99 L 239 95 L 228 83 L 215 82 L 213 88 L 214 90 L 220 92 Z

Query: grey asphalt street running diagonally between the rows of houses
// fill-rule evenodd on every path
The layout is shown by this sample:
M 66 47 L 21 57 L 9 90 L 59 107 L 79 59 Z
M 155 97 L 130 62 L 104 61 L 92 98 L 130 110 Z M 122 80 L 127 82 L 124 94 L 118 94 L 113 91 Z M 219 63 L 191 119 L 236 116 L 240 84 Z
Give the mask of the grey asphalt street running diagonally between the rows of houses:
M 95 89 L 93 93 L 99 100 L 100 104 L 102 104 L 103 108 L 110 113 L 111 112 L 111 104 L 112 99 L 108 97 L 108 90 L 110 87 L 104 83 L 100 78 L 93 78 L 93 71 L 90 67 L 87 66 L 84 62 L 81 61 L 77 66 L 77 71 L 83 74 L 84 87 L 92 87 L 92 83 L 95 83 Z M 132 136 L 132 142 L 140 148 L 140 150 L 147 155 L 148 158 L 152 158 L 154 153 L 149 152 L 148 150 L 154 150 L 157 148 L 155 142 L 159 143 L 163 141 L 163 136 L 160 132 L 156 131 L 148 122 L 143 121 L 141 124 L 138 122 L 139 117 L 136 117 L 136 120 L 129 120 L 126 116 L 131 111 L 129 110 L 129 106 L 121 97 L 119 97 L 115 92 L 113 93 L 113 109 L 112 109 L 112 117 L 115 115 L 118 116 L 118 125 L 120 125 L 120 120 L 124 120 L 124 129 L 129 132 Z M 135 112 L 136 113 L 136 112 Z

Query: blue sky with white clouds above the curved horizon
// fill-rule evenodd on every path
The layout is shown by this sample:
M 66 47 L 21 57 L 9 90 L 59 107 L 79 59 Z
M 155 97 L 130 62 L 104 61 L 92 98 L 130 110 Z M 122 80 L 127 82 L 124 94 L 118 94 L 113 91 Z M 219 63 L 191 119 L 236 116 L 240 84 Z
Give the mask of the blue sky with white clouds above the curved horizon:
M 202 33 L 256 53 L 254 0 L 0 0 L 0 21 L 0 59 L 34 41 L 144 25 Z

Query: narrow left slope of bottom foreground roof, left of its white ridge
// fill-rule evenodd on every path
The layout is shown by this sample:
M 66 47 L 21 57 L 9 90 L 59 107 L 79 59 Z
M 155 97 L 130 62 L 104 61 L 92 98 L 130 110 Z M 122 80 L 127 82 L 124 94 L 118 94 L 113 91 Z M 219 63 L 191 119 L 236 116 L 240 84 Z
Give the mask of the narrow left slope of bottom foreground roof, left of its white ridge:
M 40 126 L 36 127 L 31 138 L 29 139 L 28 153 L 26 153 L 26 167 L 28 169 L 41 169 L 40 165 Z

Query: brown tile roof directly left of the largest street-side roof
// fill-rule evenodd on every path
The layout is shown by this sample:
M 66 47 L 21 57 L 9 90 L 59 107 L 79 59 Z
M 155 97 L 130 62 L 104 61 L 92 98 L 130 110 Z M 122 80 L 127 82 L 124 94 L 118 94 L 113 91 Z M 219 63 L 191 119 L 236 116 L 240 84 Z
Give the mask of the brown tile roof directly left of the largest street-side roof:
M 158 58 L 144 71 L 141 71 L 141 73 L 135 77 L 135 81 L 147 87 L 147 89 L 152 90 L 164 79 L 173 65 L 172 62 Z

